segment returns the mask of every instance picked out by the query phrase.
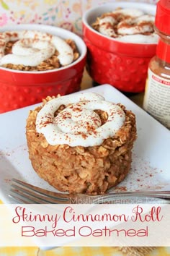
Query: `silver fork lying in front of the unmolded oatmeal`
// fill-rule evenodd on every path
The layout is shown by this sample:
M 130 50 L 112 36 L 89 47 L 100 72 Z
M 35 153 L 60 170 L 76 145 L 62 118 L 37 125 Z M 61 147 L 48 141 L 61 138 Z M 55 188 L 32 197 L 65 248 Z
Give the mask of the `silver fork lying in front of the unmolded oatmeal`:
M 170 203 L 170 191 L 112 192 L 104 195 L 65 194 L 41 189 L 19 179 L 12 179 L 9 197 L 17 202 L 32 204 Z

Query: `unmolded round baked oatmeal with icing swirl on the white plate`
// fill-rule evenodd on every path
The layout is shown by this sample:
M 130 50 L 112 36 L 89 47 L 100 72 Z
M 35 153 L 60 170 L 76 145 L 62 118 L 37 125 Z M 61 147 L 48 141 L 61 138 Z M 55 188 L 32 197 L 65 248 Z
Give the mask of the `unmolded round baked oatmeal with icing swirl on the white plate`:
M 135 115 L 96 93 L 46 98 L 27 118 L 37 174 L 63 192 L 101 194 L 131 166 Z

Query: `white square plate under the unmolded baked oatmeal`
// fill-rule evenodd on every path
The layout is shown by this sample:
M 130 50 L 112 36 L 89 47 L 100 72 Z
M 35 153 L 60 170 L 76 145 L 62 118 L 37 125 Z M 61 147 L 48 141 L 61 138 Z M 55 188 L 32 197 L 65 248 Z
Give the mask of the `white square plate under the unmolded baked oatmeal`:
M 86 91 L 99 93 L 107 101 L 122 103 L 136 116 L 138 139 L 133 148 L 132 168 L 117 189 L 170 189 L 169 130 L 111 85 Z M 28 106 L 0 115 L 0 199 L 5 203 L 13 202 L 8 196 L 12 177 L 56 191 L 37 176 L 28 157 L 25 126 L 29 110 L 34 108 Z

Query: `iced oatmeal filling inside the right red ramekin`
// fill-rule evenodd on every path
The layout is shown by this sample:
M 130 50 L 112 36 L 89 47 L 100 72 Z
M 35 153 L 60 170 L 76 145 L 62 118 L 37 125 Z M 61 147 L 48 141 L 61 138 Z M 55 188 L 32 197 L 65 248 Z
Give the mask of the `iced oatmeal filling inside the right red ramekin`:
M 153 15 L 140 9 L 117 8 L 97 17 L 92 27 L 102 35 L 122 42 L 157 43 L 154 20 Z

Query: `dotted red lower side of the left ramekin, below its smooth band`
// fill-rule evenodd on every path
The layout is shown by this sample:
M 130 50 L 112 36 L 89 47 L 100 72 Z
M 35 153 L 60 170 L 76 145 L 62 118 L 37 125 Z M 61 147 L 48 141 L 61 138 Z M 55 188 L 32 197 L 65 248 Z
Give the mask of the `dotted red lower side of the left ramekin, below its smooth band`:
M 0 113 L 40 103 L 42 98 L 46 98 L 48 95 L 67 95 L 79 91 L 84 64 L 85 60 L 79 69 L 74 69 L 70 77 L 65 75 L 67 79 L 59 82 L 55 81 L 55 77 L 53 80 L 48 79 L 49 82 L 40 82 L 35 85 L 23 79 L 22 82 L 18 82 L 18 85 L 13 85 L 4 76 L 5 78 L 0 81 Z M 48 74 L 48 77 L 50 77 L 50 74 Z

